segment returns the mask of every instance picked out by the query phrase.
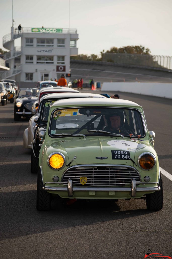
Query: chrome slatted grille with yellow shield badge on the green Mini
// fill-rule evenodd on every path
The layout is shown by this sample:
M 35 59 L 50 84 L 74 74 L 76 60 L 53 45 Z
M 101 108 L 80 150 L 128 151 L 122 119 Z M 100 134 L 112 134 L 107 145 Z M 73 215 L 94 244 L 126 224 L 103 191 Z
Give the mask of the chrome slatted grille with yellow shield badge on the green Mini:
M 83 186 L 80 177 L 87 177 L 84 186 L 130 186 L 133 178 L 139 184 L 140 177 L 133 168 L 130 167 L 72 167 L 67 170 L 62 177 L 62 182 L 67 182 L 70 178 L 73 185 Z M 66 183 L 64 183 L 66 184 Z

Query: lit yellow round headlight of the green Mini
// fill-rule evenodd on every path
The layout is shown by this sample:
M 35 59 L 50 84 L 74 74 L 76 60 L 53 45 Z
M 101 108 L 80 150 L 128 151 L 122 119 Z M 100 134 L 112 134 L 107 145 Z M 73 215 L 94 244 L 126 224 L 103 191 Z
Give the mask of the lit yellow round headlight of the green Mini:
M 61 153 L 52 153 L 48 156 L 48 165 L 53 169 L 60 169 L 65 164 L 65 157 Z

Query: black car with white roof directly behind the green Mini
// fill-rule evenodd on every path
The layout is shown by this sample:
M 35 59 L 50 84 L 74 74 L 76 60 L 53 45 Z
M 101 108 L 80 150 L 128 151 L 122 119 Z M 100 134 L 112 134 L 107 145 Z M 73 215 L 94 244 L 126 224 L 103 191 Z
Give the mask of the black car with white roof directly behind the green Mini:
M 54 93 L 54 94 L 46 95 L 41 98 L 38 112 L 36 116 L 31 118 L 32 121 L 34 119 L 34 125 L 31 126 L 31 123 L 30 123 L 30 126 L 28 126 L 28 144 L 31 143 L 32 145 L 31 173 L 37 174 L 38 172 L 39 151 L 40 151 L 39 132 L 46 130 L 50 106 L 58 100 L 65 99 L 66 102 L 68 102 L 68 99 L 70 98 L 106 98 L 106 97 L 95 93 L 65 92 L 65 93 Z M 31 119 L 29 122 L 31 122 Z M 26 132 L 24 132 L 23 134 L 23 143 L 24 142 L 26 143 L 26 139 L 27 139 L 25 133 Z M 33 133 L 34 133 L 34 136 L 32 137 L 32 140 L 31 140 L 30 137 L 31 135 L 33 135 Z

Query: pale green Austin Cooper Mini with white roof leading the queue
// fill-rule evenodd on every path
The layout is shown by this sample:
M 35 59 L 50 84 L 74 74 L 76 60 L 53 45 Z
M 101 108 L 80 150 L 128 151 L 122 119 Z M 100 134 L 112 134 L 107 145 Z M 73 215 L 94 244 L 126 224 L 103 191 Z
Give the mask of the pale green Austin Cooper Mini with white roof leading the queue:
M 37 209 L 63 199 L 146 200 L 163 206 L 162 176 L 153 131 L 140 105 L 121 99 L 77 98 L 50 104 L 39 133 Z

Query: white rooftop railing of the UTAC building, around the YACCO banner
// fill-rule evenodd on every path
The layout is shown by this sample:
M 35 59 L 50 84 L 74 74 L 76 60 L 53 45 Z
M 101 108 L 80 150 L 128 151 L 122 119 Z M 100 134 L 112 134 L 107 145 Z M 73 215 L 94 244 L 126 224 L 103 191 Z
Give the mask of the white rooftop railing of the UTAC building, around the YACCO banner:
M 22 27 L 20 33 L 18 33 L 19 32 L 18 28 L 15 28 L 14 33 L 8 33 L 8 34 L 4 35 L 3 45 L 10 40 L 14 40 L 14 39 L 17 39 L 17 38 L 21 37 L 22 33 L 27 33 L 27 32 L 35 33 L 35 32 L 32 32 L 32 30 L 31 30 L 32 28 L 33 27 Z M 44 28 L 44 29 L 46 29 L 46 28 Z M 48 32 L 44 32 L 44 33 L 48 33 Z M 75 28 L 62 28 L 62 32 L 60 32 L 60 33 L 72 33 L 72 34 L 74 33 L 74 34 L 76 34 L 77 29 L 75 29 Z

